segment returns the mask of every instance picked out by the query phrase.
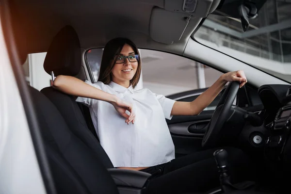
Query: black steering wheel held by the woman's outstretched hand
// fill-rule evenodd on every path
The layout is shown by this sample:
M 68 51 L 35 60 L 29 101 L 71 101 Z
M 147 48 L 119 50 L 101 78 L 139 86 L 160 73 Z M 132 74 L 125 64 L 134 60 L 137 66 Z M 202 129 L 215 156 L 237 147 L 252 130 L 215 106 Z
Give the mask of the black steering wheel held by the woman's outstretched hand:
M 232 81 L 226 87 L 225 92 L 220 98 L 218 105 L 207 125 L 206 132 L 202 140 L 202 147 L 215 146 L 224 123 L 230 117 L 230 108 L 238 93 L 240 83 Z

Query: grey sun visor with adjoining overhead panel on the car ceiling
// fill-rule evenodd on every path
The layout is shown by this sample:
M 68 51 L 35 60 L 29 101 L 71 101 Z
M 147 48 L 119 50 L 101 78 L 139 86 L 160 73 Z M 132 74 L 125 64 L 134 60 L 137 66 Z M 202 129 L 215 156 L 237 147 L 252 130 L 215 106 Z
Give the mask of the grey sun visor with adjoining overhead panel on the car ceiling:
M 220 0 L 165 0 L 164 2 L 164 9 L 154 7 L 152 10 L 149 35 L 154 41 L 173 44 L 181 39 L 193 18 L 207 17 L 217 8 Z

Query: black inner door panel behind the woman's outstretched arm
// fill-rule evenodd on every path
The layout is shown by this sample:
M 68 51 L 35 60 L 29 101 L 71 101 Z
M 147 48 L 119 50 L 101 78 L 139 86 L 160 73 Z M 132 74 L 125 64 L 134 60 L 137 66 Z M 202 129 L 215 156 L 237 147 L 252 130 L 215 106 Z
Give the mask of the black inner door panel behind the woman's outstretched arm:
M 205 90 L 207 90 L 207 88 L 182 92 L 167 97 L 177 101 L 190 102 L 196 99 Z M 175 145 L 176 157 L 203 149 L 201 143 L 205 133 L 205 126 L 209 123 L 221 94 L 222 93 L 220 93 L 220 95 L 218 95 L 199 115 L 175 115 L 171 120 L 166 120 Z

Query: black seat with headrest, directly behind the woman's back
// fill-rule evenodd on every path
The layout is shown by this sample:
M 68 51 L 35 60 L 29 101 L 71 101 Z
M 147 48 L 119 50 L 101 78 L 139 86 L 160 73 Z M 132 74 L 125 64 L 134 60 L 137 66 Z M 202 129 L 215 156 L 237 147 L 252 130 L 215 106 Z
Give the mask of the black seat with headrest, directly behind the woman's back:
M 44 69 L 50 74 L 53 71 L 55 76 L 75 76 L 81 67 L 81 48 L 77 33 L 71 26 L 65 26 L 53 38 L 49 47 Z M 106 168 L 113 168 L 108 155 L 99 144 L 96 137 L 88 129 L 80 107 L 75 97 L 66 95 L 53 87 L 46 87 L 41 90 L 46 97 L 57 107 L 63 115 L 69 129 L 80 138 L 100 158 Z M 87 107 L 86 107 L 87 108 Z M 91 120 L 91 117 L 88 118 Z M 94 130 L 95 132 L 95 130 Z M 95 132 L 96 133 L 96 132 Z

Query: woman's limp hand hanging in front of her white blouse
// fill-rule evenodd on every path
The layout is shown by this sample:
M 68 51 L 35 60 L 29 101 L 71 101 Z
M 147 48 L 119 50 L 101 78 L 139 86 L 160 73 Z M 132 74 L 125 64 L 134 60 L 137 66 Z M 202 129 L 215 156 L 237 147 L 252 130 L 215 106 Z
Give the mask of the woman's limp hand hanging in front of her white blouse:
M 133 105 L 129 102 L 126 102 L 120 98 L 117 98 L 115 102 L 111 103 L 115 110 L 123 117 L 126 118 L 125 122 L 129 124 L 132 122 L 134 124 L 135 121 L 135 113 L 133 109 Z M 129 115 L 126 113 L 126 111 L 129 111 Z

